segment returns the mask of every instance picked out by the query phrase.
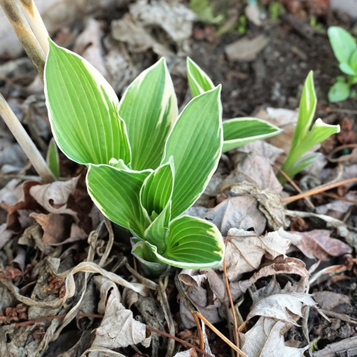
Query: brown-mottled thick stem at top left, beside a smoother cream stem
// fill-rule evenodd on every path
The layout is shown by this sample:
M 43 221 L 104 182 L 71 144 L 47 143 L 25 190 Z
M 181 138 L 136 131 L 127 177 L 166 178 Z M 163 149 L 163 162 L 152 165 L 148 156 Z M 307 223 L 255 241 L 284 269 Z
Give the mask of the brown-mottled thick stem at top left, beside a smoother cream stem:
M 20 5 L 16 0 L 0 0 L 0 5 L 43 82 L 46 57 L 25 15 L 21 11 Z

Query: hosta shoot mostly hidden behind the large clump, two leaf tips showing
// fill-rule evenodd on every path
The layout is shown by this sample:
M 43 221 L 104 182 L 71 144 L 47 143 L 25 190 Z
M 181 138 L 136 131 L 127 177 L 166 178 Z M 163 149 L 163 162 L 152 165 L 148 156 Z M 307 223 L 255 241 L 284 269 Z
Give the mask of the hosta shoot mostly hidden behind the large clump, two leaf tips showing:
M 186 70 L 192 97 L 196 97 L 215 87 L 208 75 L 190 57 Z M 277 126 L 265 120 L 243 117 L 223 121 L 223 152 L 235 149 L 248 142 L 266 139 L 282 132 Z

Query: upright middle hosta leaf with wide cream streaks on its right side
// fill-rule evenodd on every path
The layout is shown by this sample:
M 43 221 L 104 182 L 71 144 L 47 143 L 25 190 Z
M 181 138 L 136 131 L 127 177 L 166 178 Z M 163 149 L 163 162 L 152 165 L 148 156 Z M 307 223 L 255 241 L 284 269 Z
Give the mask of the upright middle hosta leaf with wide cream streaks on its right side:
M 129 135 L 132 169 L 156 169 L 177 119 L 175 90 L 164 58 L 132 82 L 120 101 L 119 114 Z

